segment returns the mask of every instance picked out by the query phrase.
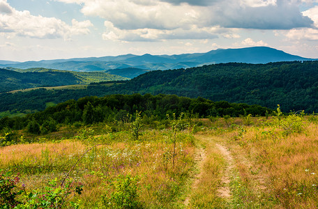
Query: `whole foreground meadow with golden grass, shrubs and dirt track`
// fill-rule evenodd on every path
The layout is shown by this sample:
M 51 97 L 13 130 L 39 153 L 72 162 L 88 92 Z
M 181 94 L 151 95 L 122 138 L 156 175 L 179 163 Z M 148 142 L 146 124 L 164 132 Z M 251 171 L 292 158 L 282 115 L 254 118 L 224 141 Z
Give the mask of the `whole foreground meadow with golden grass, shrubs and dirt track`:
M 136 121 L 0 148 L 0 206 L 318 208 L 317 116 Z

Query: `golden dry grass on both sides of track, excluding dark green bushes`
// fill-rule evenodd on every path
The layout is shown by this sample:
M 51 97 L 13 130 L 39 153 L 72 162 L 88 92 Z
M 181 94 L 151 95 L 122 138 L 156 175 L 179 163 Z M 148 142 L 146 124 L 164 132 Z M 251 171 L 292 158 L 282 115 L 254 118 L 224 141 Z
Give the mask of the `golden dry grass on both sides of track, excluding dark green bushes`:
M 188 208 L 317 208 L 318 125 L 306 122 L 303 132 L 286 134 L 264 118 L 251 120 L 254 125 L 243 125 L 242 119 L 236 118 L 232 121 L 237 125 L 231 127 L 222 127 L 222 121 L 220 127 L 215 127 L 215 122 L 210 130 L 202 129 L 205 134 L 197 135 L 196 142 L 199 150 L 204 148 L 205 156 L 192 186 L 193 139 L 186 132 L 179 133 L 173 165 L 169 130 L 147 130 L 141 141 L 132 141 L 128 132 L 112 138 L 110 134 L 91 137 L 96 143 L 110 141 L 109 145 L 87 153 L 70 178 L 84 183 L 79 196 L 84 208 L 96 208 L 102 194 L 112 194 L 112 183 L 119 175 L 138 179 L 138 200 L 145 208 L 183 208 L 187 193 Z M 65 177 L 82 153 L 93 146 L 89 139 L 0 148 L 0 169 L 21 171 L 22 183 L 34 185 L 31 189 L 43 187 L 47 180 Z M 231 169 L 227 169 L 229 161 Z M 220 194 L 222 188 L 227 195 Z

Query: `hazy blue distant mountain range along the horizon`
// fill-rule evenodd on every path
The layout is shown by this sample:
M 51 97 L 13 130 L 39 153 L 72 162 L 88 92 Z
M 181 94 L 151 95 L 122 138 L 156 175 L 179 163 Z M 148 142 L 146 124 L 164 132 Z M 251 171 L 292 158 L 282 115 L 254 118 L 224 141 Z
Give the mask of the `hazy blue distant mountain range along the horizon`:
M 312 61 L 301 56 L 287 54 L 270 47 L 248 47 L 242 49 L 216 49 L 206 53 L 179 55 L 142 56 L 126 54 L 75 59 L 13 62 L 0 61 L 0 68 L 51 68 L 80 72 L 105 71 L 123 77 L 135 77 L 150 70 L 192 68 L 214 63 L 271 63 L 278 61 Z M 119 70 L 121 69 L 121 70 Z M 126 69 L 126 70 L 123 70 Z M 132 71 L 132 72 L 131 72 Z M 129 76 L 127 76 L 129 74 Z

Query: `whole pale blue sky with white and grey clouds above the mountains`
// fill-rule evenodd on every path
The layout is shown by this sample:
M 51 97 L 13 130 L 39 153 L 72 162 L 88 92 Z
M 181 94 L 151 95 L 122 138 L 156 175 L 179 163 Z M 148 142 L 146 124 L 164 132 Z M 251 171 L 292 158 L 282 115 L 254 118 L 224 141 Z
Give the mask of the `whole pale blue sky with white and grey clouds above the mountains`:
M 318 0 L 0 0 L 0 60 L 251 46 L 318 58 Z

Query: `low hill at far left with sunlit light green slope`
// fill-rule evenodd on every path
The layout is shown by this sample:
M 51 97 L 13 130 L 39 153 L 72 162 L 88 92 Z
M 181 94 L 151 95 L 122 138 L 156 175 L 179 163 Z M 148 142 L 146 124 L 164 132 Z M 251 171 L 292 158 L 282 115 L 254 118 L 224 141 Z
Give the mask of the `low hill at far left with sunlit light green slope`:
M 128 79 L 107 72 L 71 72 L 45 68 L 9 69 L 0 69 L 0 93 L 40 86 L 66 86 Z

